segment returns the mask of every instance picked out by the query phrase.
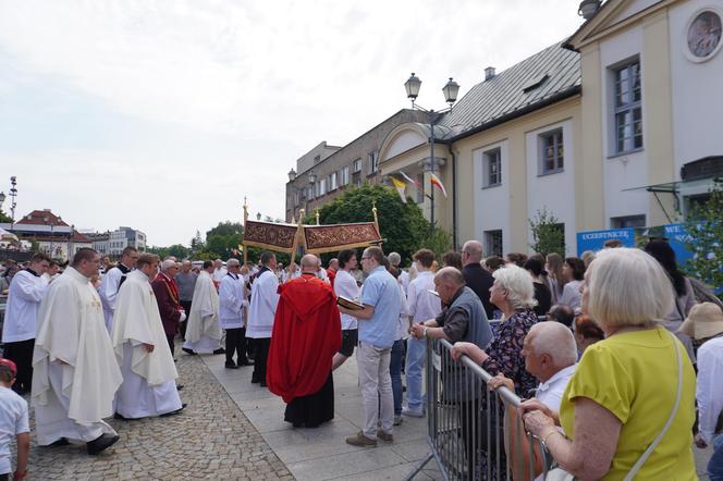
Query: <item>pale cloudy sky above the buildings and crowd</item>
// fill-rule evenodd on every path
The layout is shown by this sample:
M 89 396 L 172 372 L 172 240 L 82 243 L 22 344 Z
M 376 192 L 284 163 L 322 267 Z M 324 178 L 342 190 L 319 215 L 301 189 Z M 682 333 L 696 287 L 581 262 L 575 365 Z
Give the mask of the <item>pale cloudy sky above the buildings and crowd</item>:
M 16 219 L 187 245 L 283 218 L 286 173 L 565 39 L 576 0 L 0 0 L 0 190 Z M 3 210 L 8 211 L 8 201 Z

